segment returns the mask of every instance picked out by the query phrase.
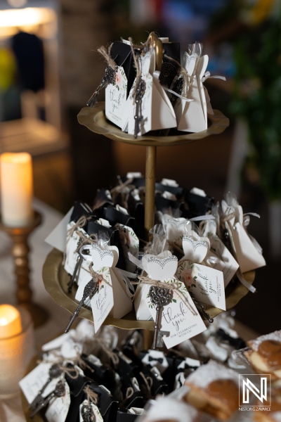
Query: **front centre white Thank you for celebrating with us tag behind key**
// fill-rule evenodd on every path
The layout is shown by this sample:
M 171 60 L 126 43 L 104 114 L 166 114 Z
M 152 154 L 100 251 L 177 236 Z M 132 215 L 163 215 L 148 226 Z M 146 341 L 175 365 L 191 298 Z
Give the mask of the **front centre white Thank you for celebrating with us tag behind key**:
M 160 328 L 161 331 L 168 331 L 170 333 L 169 336 L 163 337 L 168 349 L 206 330 L 206 326 L 200 314 L 198 314 L 184 284 L 178 282 L 175 278 L 171 278 L 165 280 L 163 286 L 169 288 L 169 283 L 174 282 L 177 282 L 179 287 L 178 290 L 173 290 L 173 298 L 169 305 L 163 307 Z M 145 301 L 155 321 L 156 307 L 150 302 L 149 296 Z

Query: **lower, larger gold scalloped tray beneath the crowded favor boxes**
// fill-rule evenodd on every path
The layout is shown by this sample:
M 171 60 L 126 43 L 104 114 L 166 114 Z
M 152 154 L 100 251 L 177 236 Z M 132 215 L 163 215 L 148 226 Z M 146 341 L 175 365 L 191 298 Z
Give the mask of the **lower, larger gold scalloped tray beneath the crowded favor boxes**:
M 253 283 L 255 271 L 249 271 L 244 273 L 244 279 Z M 69 275 L 63 268 L 63 253 L 57 249 L 51 250 L 46 257 L 46 261 L 43 266 L 43 281 L 44 286 L 48 293 L 50 293 L 53 300 L 67 309 L 67 311 L 74 313 L 77 308 L 78 302 L 75 300 L 76 285 L 72 288 L 72 293 L 67 292 L 67 283 L 69 281 Z M 244 287 L 239 281 L 233 281 L 228 284 L 226 288 L 226 309 L 231 309 L 245 296 L 249 290 Z M 223 312 L 221 309 L 216 307 L 209 307 L 207 312 L 214 318 L 214 316 Z M 93 314 L 90 309 L 81 307 L 79 317 L 89 319 L 93 321 Z M 65 325 L 68 321 L 65 321 Z M 154 321 L 138 321 L 136 319 L 135 312 L 130 312 L 122 319 L 107 317 L 105 319 L 105 325 L 111 325 L 125 330 L 143 329 L 143 330 L 154 330 Z

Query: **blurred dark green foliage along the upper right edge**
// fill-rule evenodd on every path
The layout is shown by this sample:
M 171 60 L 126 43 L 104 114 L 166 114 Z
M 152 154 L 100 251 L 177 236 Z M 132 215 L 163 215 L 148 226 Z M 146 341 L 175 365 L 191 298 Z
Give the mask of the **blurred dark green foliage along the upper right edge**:
M 270 201 L 281 199 L 281 16 L 240 34 L 235 43 L 230 111 L 244 117 L 250 151 L 245 171 L 256 175 Z

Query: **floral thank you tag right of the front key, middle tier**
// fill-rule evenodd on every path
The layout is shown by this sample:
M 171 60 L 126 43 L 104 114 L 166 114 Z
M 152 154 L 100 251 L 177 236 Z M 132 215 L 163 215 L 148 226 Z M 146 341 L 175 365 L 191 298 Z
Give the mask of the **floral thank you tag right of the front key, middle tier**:
M 223 273 L 194 262 L 183 261 L 178 265 L 176 276 L 199 302 L 226 310 Z

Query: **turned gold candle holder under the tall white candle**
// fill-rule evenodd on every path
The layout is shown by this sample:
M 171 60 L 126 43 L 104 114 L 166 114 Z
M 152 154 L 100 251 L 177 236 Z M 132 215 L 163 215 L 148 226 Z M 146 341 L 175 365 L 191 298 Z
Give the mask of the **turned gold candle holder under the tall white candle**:
M 41 214 L 34 211 L 34 217 L 29 226 L 9 227 L 0 222 L 0 229 L 5 231 L 13 241 L 12 255 L 15 264 L 16 291 L 15 297 L 18 305 L 25 307 L 30 315 L 34 327 L 41 326 L 48 318 L 44 308 L 32 302 L 32 288 L 30 287 L 30 266 L 28 255 L 30 247 L 28 236 L 41 224 Z

